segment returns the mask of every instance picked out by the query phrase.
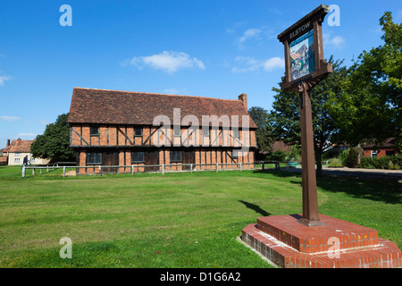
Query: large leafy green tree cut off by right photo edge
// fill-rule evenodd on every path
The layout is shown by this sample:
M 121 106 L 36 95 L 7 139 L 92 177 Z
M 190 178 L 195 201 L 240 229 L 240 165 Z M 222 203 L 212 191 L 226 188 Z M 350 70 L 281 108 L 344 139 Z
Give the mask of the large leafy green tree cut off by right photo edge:
M 395 138 L 401 146 L 402 24 L 389 12 L 380 19 L 384 44 L 359 55 L 343 83 L 343 93 L 330 98 L 338 114 L 339 137 L 357 146 Z

